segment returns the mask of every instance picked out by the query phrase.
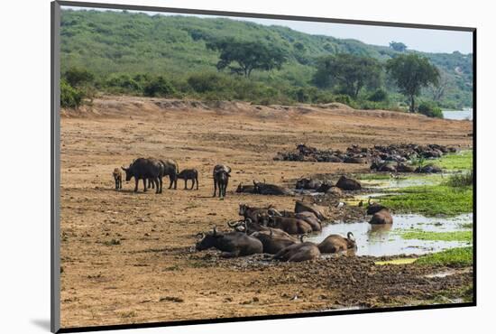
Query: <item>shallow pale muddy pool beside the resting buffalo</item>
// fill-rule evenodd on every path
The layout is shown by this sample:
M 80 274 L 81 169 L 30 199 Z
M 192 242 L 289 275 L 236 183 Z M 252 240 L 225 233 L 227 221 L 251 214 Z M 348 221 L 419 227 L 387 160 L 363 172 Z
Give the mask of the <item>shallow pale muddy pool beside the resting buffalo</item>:
M 448 248 L 468 246 L 466 242 L 407 240 L 401 237 L 401 230 L 422 229 L 432 232 L 448 232 L 463 230 L 463 223 L 473 221 L 472 214 L 455 218 L 427 218 L 421 215 L 394 215 L 392 226 L 372 226 L 363 218 L 356 223 L 333 223 L 322 229 L 322 232 L 308 237 L 309 241 L 321 242 L 330 234 L 346 236 L 352 232 L 357 242 L 356 255 L 422 255 L 438 252 Z

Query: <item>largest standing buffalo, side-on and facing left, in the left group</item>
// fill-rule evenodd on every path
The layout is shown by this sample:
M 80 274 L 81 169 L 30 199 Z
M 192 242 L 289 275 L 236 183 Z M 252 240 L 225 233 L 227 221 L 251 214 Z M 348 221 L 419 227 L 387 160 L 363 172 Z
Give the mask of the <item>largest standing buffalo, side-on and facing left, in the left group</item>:
M 160 193 L 162 190 L 161 182 L 161 162 L 153 158 L 138 158 L 129 165 L 128 168 L 121 167 L 125 172 L 125 181 L 131 181 L 134 178 L 134 192 L 138 191 L 138 181 L 143 181 L 143 191 L 146 191 L 146 181 L 153 182 L 156 190 Z

